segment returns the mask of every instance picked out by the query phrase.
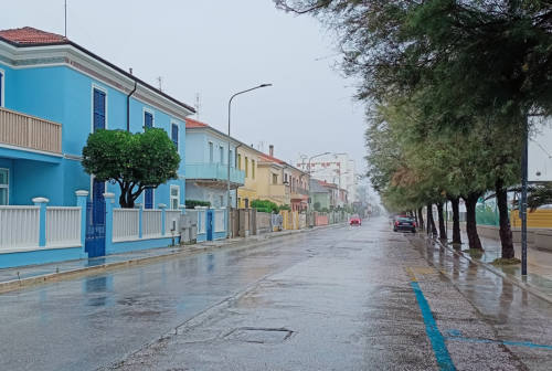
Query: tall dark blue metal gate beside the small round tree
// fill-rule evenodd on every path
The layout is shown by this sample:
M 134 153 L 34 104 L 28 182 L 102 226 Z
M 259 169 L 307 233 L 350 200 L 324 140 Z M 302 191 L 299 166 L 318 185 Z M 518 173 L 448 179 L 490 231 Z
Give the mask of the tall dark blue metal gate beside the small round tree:
M 105 201 L 94 200 L 86 203 L 85 252 L 88 257 L 105 255 Z

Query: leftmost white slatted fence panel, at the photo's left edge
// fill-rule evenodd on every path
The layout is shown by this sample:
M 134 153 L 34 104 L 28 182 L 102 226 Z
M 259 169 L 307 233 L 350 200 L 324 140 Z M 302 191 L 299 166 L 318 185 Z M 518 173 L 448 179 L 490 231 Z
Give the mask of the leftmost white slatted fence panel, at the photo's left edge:
M 0 206 L 0 251 L 39 245 L 39 206 Z

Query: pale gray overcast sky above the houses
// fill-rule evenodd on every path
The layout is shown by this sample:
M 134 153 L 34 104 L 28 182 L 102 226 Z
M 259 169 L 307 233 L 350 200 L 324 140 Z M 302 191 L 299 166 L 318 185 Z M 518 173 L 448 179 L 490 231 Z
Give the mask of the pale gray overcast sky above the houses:
M 255 147 L 275 146 L 283 160 L 298 153 L 350 153 L 364 163 L 363 108 L 352 80 L 332 68 L 337 52 L 319 22 L 278 11 L 270 0 L 67 0 L 67 36 L 190 105 L 200 119 Z M 34 26 L 63 34 L 63 0 L 2 4 L 0 28 Z

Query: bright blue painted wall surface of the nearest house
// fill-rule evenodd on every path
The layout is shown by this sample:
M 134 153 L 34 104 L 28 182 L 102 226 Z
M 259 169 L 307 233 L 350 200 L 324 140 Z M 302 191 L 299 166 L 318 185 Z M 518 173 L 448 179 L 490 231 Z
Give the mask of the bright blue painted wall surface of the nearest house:
M 4 106 L 29 115 L 62 124 L 62 151 L 81 156 L 92 130 L 92 94 L 97 87 L 106 92 L 108 129 L 126 129 L 126 94 L 68 66 L 44 66 L 4 71 Z M 160 109 L 130 98 L 130 131 L 144 131 L 144 109 L 153 114 L 153 126 L 170 136 L 171 123 L 179 125 L 179 153 L 183 177 L 185 159 L 185 125 Z M 13 155 L 18 152 L 17 155 Z M 3 153 L 3 155 L 2 155 Z M 91 190 L 91 177 L 78 160 L 57 158 L 57 163 L 36 160 L 26 151 L 0 151 L 0 167 L 10 169 L 10 203 L 31 204 L 33 197 L 50 199 L 51 205 L 74 205 L 76 190 Z M 2 165 L 3 163 L 3 165 Z M 170 204 L 169 184 L 180 186 L 180 203 L 185 200 L 185 182 L 177 179 L 155 190 L 155 203 Z M 118 186 L 108 191 L 119 194 Z M 141 198 L 138 202 L 142 202 Z

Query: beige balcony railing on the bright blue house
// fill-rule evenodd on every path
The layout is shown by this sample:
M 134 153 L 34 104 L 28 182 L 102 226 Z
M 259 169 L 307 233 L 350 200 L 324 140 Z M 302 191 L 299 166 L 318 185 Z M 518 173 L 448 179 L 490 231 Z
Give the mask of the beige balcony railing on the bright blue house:
M 0 145 L 62 152 L 62 125 L 0 107 Z

